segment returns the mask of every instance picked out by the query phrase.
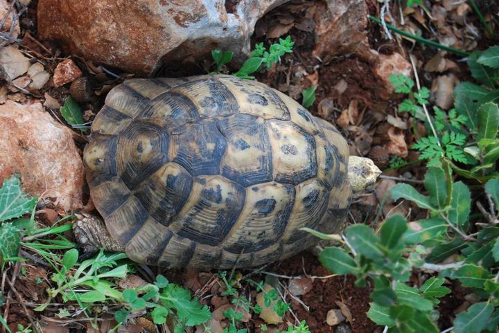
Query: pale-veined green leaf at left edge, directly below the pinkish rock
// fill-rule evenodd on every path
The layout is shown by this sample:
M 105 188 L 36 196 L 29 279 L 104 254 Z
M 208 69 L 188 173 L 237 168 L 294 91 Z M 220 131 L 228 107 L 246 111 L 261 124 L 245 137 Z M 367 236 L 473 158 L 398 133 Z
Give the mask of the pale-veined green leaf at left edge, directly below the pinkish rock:
M 30 213 L 36 203 L 37 198 L 24 194 L 17 175 L 5 179 L 0 188 L 0 222 Z

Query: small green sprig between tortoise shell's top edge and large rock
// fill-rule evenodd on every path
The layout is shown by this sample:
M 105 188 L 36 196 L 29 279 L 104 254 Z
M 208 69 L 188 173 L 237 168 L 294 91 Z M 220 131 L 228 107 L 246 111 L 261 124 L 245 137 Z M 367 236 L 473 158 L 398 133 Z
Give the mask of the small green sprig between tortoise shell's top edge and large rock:
M 251 57 L 249 57 L 249 59 L 244 62 L 243 66 L 233 75 L 239 78 L 253 80 L 254 76 L 250 74 L 259 71 L 263 65 L 265 65 L 266 68 L 269 68 L 272 64 L 279 62 L 280 57 L 286 53 L 292 53 L 293 45 L 295 45 L 295 42 L 291 41 L 291 36 L 286 37 L 286 39 L 279 38 L 279 43 L 272 44 L 268 51 L 267 48 L 263 46 L 263 43 L 256 44 L 254 50 L 250 53 Z M 213 61 L 217 66 L 217 71 L 220 71 L 222 65 L 230 62 L 232 54 L 231 51 L 223 52 L 220 49 L 211 52 Z

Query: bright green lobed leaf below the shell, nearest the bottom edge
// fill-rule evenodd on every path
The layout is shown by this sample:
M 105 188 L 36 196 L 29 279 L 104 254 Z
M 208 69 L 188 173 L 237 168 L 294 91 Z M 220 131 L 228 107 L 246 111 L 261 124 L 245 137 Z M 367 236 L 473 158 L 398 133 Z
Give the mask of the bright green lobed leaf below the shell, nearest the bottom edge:
M 167 285 L 159 298 L 166 307 L 175 309 L 179 321 L 186 325 L 201 325 L 211 318 L 208 307 L 200 305 L 196 299 L 191 300 L 191 293 L 178 285 Z

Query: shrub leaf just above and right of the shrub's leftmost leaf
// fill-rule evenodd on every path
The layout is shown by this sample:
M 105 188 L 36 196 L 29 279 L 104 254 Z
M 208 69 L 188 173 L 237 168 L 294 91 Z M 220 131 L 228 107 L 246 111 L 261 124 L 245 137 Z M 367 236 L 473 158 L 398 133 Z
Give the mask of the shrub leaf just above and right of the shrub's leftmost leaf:
M 347 229 L 347 240 L 357 253 L 369 259 L 382 259 L 383 253 L 378 248 L 378 236 L 365 224 L 354 224 Z

